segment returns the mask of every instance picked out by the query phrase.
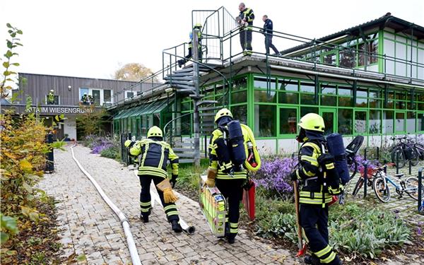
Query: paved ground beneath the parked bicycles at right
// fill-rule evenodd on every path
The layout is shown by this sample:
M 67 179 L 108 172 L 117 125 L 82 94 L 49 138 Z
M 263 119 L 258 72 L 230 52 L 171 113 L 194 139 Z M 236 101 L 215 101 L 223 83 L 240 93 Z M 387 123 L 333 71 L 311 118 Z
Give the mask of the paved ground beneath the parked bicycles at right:
M 420 161 L 418 165 L 415 167 L 411 167 L 411 175 L 409 174 L 409 168 L 408 165 L 406 165 L 404 168 L 399 169 L 399 173 L 404 173 L 404 177 L 401 179 L 406 180 L 407 177 L 416 177 L 418 178 L 418 170 L 420 167 L 424 167 L 424 161 Z M 387 168 L 387 175 L 390 176 L 391 180 L 393 180 L 397 185 L 399 184 L 399 179 L 394 177 L 396 174 L 396 167 L 388 167 Z M 351 184 L 348 186 L 348 194 L 351 194 L 353 191 L 353 188 L 355 187 L 355 183 L 358 181 L 359 174 L 357 174 Z M 408 194 L 404 192 L 403 196 L 399 198 L 399 195 L 396 194 L 396 188 L 389 184 L 390 189 L 390 201 L 387 203 L 382 203 L 377 199 L 377 196 L 375 196 L 375 192 L 372 190 L 372 187 L 367 187 L 367 197 L 366 200 L 370 201 L 371 203 L 375 203 L 379 206 L 382 206 L 384 208 L 387 208 L 390 211 L 393 211 L 397 215 L 399 215 L 402 218 L 406 218 L 411 223 L 418 223 L 418 222 L 424 222 L 424 216 L 421 216 L 417 213 L 418 209 L 418 202 L 414 199 L 412 199 Z M 358 192 L 358 195 L 355 196 L 356 199 L 362 200 L 363 198 L 363 189 Z M 351 196 L 349 196 L 349 199 L 351 199 Z

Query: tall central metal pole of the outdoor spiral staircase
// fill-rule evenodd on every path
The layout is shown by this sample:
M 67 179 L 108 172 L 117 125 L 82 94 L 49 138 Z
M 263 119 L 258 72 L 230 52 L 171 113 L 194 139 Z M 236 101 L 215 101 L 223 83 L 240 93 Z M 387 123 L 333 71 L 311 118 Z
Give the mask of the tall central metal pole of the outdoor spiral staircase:
M 200 139 L 199 139 L 199 131 L 200 131 L 200 123 L 199 123 L 199 29 L 195 28 L 193 30 L 193 85 L 194 85 L 194 165 L 196 167 L 200 167 Z

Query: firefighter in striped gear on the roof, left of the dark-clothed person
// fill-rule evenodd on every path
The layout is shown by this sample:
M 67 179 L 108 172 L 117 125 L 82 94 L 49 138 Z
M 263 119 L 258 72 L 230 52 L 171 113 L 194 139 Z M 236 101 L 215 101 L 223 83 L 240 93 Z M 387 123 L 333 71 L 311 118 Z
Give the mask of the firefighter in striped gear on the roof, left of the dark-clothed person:
M 237 23 L 240 25 L 240 45 L 243 55 L 252 55 L 252 30 L 254 13 L 252 8 L 246 8 L 245 3 L 239 5 L 240 14 L 237 17 Z

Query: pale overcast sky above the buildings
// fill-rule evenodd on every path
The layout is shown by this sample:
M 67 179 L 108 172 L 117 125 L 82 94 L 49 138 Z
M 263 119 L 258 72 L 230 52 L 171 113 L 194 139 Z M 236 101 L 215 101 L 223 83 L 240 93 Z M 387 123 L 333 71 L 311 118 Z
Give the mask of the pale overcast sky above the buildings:
M 238 16 L 240 0 L 155 1 L 23 1 L 0 0 L 0 52 L 6 52 L 7 28 L 23 30 L 23 47 L 16 49 L 19 72 L 60 76 L 112 78 L 127 63 L 140 63 L 153 71 L 162 68 L 162 51 L 187 42 L 192 10 L 220 6 Z M 245 1 L 253 9 L 254 25 L 261 17 L 273 20 L 274 30 L 303 37 L 323 37 L 384 16 L 424 26 L 424 1 Z M 255 37 L 254 50 L 264 52 L 263 38 Z M 275 40 L 278 49 L 290 43 Z

